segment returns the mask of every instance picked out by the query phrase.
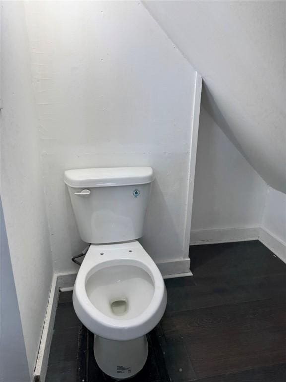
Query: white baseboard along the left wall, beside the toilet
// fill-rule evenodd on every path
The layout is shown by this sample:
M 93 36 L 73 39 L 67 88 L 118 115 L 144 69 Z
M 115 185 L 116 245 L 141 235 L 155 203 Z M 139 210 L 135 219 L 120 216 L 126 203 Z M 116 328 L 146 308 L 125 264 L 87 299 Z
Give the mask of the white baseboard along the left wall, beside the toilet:
M 40 347 L 34 370 L 34 381 L 44 382 L 47 374 L 50 347 L 53 336 L 53 328 L 59 297 L 59 285 L 57 275 L 52 279 L 51 291 L 47 305 L 47 311 L 40 341 Z

